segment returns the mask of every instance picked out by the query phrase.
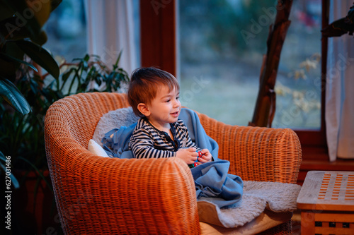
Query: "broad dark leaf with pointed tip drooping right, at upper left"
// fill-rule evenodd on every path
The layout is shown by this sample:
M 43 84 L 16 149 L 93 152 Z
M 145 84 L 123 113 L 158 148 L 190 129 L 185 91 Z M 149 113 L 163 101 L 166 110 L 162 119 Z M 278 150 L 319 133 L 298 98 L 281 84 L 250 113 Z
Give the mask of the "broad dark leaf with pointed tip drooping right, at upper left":
M 16 41 L 18 47 L 20 47 L 25 54 L 30 56 L 35 63 L 44 68 L 48 73 L 50 73 L 54 78 L 59 78 L 59 66 L 57 61 L 52 57 L 52 55 L 47 52 L 46 49 L 40 47 L 38 44 L 34 44 L 30 41 Z

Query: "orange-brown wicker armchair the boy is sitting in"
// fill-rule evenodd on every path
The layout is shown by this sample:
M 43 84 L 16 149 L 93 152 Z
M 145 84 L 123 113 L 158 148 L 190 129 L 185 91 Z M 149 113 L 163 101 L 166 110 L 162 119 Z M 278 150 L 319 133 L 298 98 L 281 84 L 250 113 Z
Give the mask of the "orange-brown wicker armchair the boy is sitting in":
M 101 116 L 128 107 L 126 95 L 84 93 L 52 104 L 45 145 L 65 234 L 200 234 L 195 186 L 181 160 L 98 157 L 87 150 Z M 198 114 L 230 174 L 296 183 L 301 147 L 294 131 L 230 126 Z M 291 234 L 291 221 L 264 234 Z

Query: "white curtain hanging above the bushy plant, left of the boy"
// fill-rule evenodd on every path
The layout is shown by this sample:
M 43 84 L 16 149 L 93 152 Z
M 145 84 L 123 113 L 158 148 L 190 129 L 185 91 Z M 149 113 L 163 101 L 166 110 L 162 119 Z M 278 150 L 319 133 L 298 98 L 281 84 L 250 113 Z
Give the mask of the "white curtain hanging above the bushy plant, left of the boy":
M 111 67 L 122 51 L 119 66 L 130 75 L 138 66 L 133 1 L 85 0 L 85 8 L 89 54 Z

